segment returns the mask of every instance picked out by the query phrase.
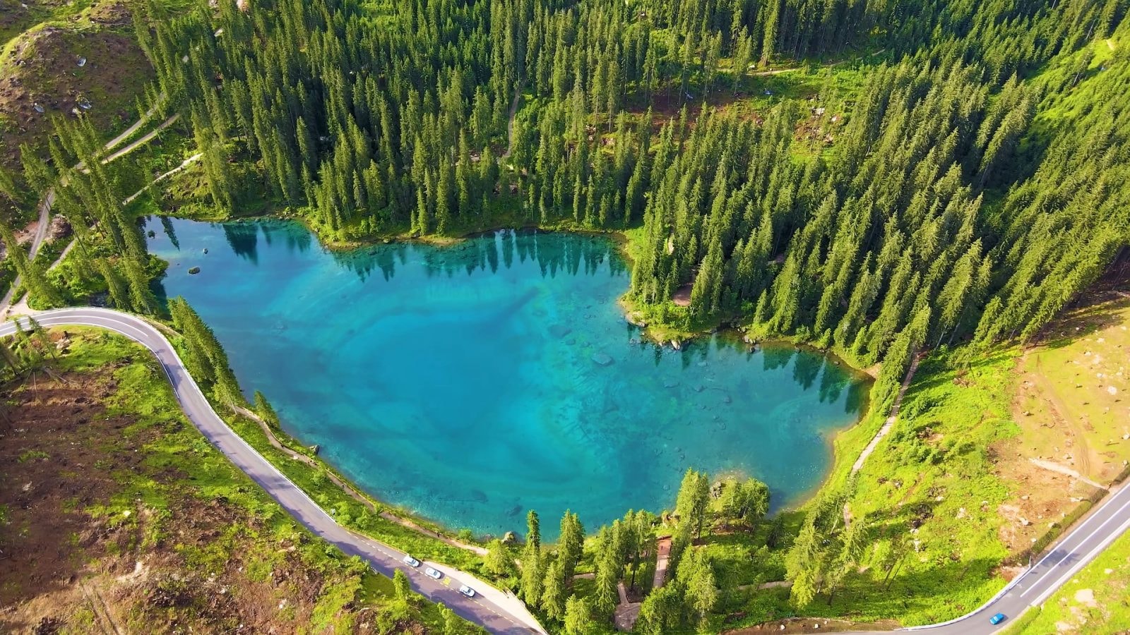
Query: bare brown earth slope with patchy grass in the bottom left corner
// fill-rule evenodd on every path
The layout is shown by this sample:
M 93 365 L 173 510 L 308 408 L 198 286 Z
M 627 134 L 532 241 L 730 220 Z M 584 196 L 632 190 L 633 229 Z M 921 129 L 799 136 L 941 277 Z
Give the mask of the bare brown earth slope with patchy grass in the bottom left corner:
M 131 363 L 0 389 L 0 632 L 308 629 L 320 597 L 356 575 L 342 576 L 308 534 L 277 531 L 278 513 L 190 494 L 195 475 L 154 466 L 147 446 L 188 424 L 107 414 L 114 372 Z M 193 562 L 202 554 L 218 564 Z M 374 629 L 373 608 L 344 610 L 356 614 L 350 632 Z

